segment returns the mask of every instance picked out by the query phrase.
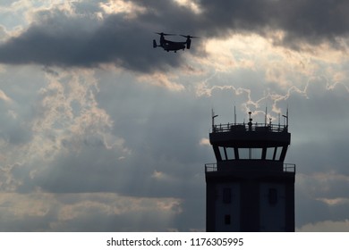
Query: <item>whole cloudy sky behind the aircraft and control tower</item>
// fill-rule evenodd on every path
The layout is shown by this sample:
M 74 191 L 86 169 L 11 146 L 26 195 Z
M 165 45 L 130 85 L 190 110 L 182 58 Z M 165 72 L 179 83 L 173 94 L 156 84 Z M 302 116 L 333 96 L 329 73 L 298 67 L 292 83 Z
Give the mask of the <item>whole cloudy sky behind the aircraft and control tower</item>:
M 349 230 L 345 0 L 0 1 L 0 230 L 205 229 L 217 122 L 289 107 L 298 231 Z M 154 32 L 198 36 L 152 48 Z M 172 37 L 183 40 L 183 37 Z

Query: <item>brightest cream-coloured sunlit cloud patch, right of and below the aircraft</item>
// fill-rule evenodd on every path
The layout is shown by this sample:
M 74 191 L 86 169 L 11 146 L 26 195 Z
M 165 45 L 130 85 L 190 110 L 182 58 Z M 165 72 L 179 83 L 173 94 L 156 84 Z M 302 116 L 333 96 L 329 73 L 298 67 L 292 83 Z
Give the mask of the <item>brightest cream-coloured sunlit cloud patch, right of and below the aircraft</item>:
M 209 54 L 202 62 L 219 72 L 243 69 L 264 71 L 268 82 L 282 87 L 305 86 L 307 79 L 325 75 L 330 82 L 343 81 L 347 72 L 338 68 L 344 63 L 343 51 L 328 44 L 304 47 L 304 51 L 277 46 L 282 34 L 270 33 L 268 37 L 258 35 L 233 35 L 227 39 L 209 39 L 206 51 Z M 346 51 L 346 50 L 345 50 Z M 328 63 L 324 69 L 323 64 Z

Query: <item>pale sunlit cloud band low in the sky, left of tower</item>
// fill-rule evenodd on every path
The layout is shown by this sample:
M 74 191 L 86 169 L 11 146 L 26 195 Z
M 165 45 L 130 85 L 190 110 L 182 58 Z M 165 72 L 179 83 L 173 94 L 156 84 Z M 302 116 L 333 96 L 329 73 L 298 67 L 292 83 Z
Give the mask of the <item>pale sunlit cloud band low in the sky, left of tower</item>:
M 166 227 L 168 221 L 182 212 L 180 199 L 120 196 L 114 193 L 51 194 L 38 191 L 23 195 L 3 192 L 0 204 L 0 212 L 5 218 L 3 224 L 21 219 L 26 225 L 30 223 L 25 220 L 28 217 L 31 218 L 29 220 L 45 221 L 50 229 L 56 231 L 64 230 L 67 223 L 79 224 L 87 218 L 92 223 L 110 223 L 110 220 L 131 218 L 134 213 L 142 216 L 135 220 L 126 219 L 123 225 L 115 227 L 126 230 L 131 222 L 140 223 L 144 217 L 160 218 Z M 90 214 L 97 216 L 95 218 Z

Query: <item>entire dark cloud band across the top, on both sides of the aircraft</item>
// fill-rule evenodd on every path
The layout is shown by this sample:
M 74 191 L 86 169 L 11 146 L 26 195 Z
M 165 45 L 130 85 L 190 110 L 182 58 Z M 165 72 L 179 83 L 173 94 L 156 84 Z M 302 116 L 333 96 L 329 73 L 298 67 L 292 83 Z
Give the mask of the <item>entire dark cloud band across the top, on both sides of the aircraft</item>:
M 77 15 L 52 10 L 36 15 L 29 29 L 0 46 L 1 63 L 37 63 L 63 67 L 94 67 L 100 63 L 132 71 L 166 70 L 179 66 L 182 51 L 167 54 L 151 47 L 153 32 L 178 32 L 209 37 L 224 37 L 232 32 L 254 32 L 275 38 L 281 46 L 302 48 L 303 43 L 318 45 L 329 41 L 338 46 L 338 37 L 348 35 L 349 21 L 345 1 L 197 1 L 199 13 L 174 1 L 130 1 L 145 8 L 136 17 L 111 14 L 102 21 L 98 4 L 75 4 Z M 178 38 L 180 39 L 180 38 Z M 201 42 L 204 39 L 201 39 Z M 195 40 L 196 46 L 200 44 Z M 195 53 L 196 47 L 193 46 Z

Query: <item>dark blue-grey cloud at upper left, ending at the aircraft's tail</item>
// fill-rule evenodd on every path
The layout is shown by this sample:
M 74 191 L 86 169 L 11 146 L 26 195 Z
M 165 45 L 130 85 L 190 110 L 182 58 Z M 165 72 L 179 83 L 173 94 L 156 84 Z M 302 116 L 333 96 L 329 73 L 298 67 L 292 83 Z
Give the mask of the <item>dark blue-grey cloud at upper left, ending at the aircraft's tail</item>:
M 7 41 L 0 47 L 0 61 L 62 67 L 115 63 L 134 71 L 151 71 L 178 63 L 178 56 L 165 57 L 152 50 L 153 34 L 149 30 L 119 16 L 110 16 L 100 24 L 88 20 L 92 25 L 87 27 L 84 20 L 64 15 L 59 19 L 58 24 L 56 19 L 35 24 L 20 37 Z

